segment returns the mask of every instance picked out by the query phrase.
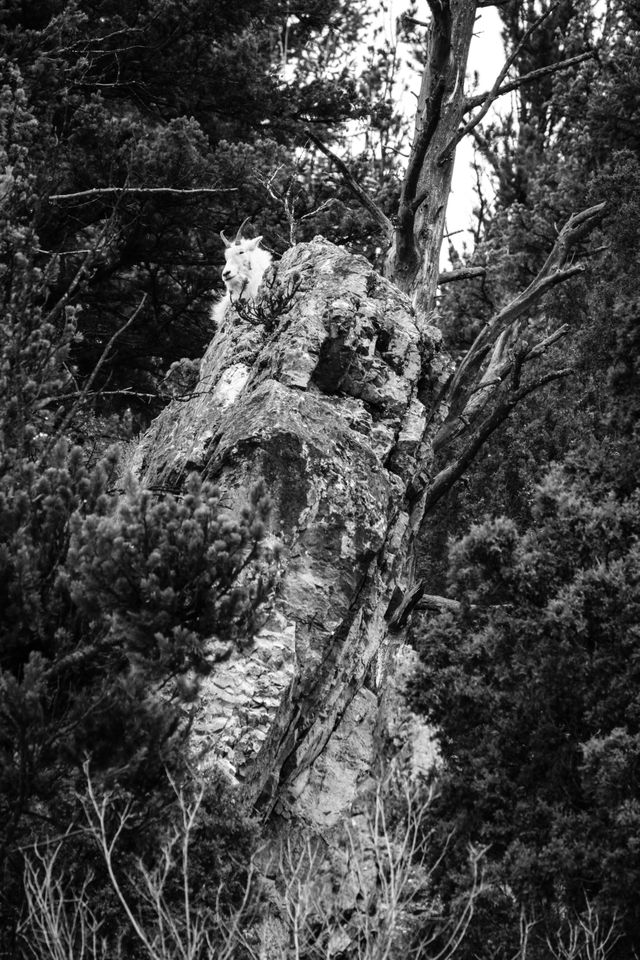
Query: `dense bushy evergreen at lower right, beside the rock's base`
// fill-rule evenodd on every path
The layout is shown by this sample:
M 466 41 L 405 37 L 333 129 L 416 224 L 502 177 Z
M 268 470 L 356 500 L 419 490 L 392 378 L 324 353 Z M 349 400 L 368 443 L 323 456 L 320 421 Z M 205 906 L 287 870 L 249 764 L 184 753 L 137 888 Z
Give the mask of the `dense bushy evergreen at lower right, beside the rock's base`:
M 621 956 L 640 941 L 638 508 L 556 469 L 530 528 L 486 521 L 451 549 L 460 613 L 419 633 L 412 700 L 442 753 L 430 825 L 451 836 L 449 898 L 467 844 L 486 847 L 469 956 L 487 937 L 517 949 L 522 909 L 542 943 L 588 904 L 624 928 Z

